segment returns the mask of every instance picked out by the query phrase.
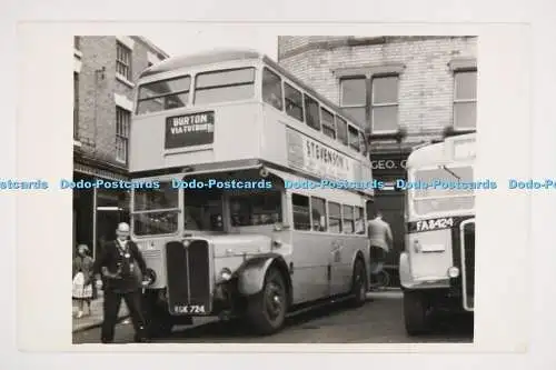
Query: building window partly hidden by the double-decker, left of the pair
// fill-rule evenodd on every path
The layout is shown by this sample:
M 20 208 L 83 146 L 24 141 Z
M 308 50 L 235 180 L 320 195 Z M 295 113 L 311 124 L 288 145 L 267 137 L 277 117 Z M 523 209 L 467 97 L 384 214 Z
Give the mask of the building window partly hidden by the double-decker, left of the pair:
M 354 77 L 340 81 L 340 104 L 361 127 L 367 122 L 367 80 Z

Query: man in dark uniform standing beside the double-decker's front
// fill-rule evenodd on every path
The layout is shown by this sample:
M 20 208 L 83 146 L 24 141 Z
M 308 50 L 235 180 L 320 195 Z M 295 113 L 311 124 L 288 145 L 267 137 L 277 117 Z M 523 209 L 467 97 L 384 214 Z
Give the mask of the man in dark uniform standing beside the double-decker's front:
M 121 222 L 116 230 L 117 239 L 108 242 L 100 257 L 95 262 L 97 284 L 102 286 L 103 277 L 105 301 L 103 322 L 100 340 L 111 343 L 121 300 L 126 301 L 136 331 L 135 341 L 146 342 L 146 322 L 141 309 L 142 277 L 147 266 L 137 244 L 129 240 L 129 224 Z

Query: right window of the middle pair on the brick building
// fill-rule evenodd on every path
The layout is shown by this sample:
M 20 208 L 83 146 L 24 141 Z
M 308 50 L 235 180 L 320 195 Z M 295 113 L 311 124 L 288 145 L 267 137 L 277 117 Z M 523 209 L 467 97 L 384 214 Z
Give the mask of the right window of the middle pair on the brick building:
M 398 77 L 374 77 L 371 84 L 371 132 L 398 130 Z

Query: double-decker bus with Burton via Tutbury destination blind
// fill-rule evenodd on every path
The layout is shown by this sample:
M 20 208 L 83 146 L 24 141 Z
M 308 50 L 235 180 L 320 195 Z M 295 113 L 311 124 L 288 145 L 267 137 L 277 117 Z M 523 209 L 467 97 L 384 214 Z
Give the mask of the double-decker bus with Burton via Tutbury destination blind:
M 364 131 L 268 57 L 218 50 L 145 70 L 129 166 L 158 183 L 131 197 L 152 336 L 202 316 L 269 334 L 322 299 L 364 304 Z

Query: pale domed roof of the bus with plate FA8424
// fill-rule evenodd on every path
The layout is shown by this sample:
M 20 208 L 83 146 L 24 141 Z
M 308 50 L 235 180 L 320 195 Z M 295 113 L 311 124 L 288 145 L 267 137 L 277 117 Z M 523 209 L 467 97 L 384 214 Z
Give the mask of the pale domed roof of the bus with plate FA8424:
M 441 142 L 418 148 L 409 154 L 409 157 L 407 158 L 406 166 L 407 168 L 420 168 L 431 164 L 451 163 L 456 161 L 456 159 L 454 159 L 453 157 L 453 151 L 449 150 L 448 153 L 447 149 L 453 148 L 455 143 L 460 141 L 464 142 L 470 141 L 471 144 L 475 146 L 475 140 L 476 140 L 476 133 L 466 133 L 466 134 L 449 137 Z M 471 158 L 469 158 L 469 160 Z

